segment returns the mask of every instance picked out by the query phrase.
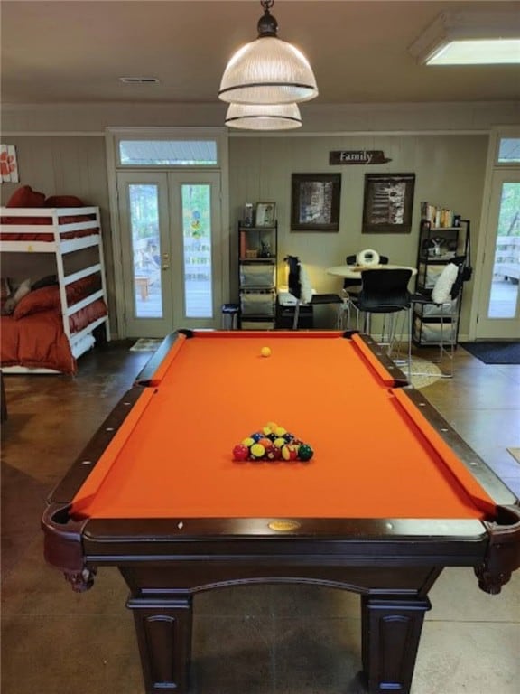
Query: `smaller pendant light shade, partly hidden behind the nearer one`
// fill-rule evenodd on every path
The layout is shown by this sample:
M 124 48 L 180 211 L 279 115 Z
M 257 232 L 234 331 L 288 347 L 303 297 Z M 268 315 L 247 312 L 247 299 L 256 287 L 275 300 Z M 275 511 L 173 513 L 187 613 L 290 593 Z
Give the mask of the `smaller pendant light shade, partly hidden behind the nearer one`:
M 289 130 L 302 126 L 296 104 L 229 104 L 226 125 L 243 130 Z

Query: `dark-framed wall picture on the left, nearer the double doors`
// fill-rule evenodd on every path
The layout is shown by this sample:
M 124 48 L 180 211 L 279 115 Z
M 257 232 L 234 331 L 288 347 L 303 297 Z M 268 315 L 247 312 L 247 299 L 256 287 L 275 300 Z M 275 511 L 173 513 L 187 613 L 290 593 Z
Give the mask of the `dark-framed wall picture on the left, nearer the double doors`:
M 341 174 L 292 174 L 291 230 L 339 231 Z

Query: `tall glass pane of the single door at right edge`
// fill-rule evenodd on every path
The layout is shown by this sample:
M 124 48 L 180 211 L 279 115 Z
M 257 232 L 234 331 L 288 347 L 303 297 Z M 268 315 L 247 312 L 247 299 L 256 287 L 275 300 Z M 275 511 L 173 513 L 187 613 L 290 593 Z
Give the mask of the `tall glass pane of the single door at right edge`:
M 520 183 L 504 183 L 488 318 L 514 318 L 520 278 Z

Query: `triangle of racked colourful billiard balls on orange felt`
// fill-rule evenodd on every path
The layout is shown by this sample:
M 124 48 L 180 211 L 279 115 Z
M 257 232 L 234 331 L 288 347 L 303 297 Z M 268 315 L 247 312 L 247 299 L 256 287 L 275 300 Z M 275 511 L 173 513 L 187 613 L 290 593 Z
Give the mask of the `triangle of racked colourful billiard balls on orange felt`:
M 246 436 L 233 447 L 233 460 L 237 463 L 246 461 L 261 463 L 308 463 L 314 451 L 311 445 L 304 443 L 285 428 L 269 422 L 258 431 Z

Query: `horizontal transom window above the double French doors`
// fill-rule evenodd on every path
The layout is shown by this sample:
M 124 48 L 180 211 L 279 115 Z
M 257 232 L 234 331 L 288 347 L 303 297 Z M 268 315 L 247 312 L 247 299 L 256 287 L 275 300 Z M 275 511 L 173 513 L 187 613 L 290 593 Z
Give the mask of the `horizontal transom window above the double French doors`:
M 122 166 L 216 166 L 216 140 L 119 140 Z

